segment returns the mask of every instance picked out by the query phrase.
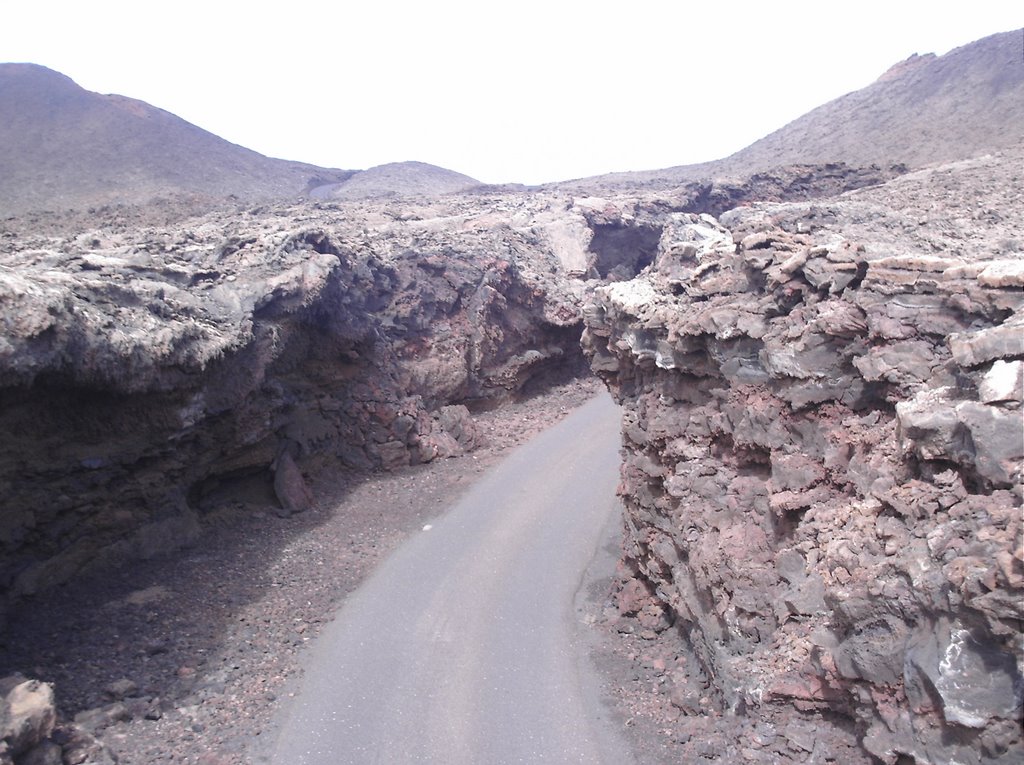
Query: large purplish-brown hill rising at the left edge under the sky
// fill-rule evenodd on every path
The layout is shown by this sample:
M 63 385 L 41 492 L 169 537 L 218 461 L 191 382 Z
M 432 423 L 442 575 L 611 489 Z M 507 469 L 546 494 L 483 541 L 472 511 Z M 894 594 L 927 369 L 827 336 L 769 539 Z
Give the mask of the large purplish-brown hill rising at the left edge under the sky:
M 264 157 L 45 67 L 0 65 L 0 215 L 177 194 L 295 199 L 352 172 Z

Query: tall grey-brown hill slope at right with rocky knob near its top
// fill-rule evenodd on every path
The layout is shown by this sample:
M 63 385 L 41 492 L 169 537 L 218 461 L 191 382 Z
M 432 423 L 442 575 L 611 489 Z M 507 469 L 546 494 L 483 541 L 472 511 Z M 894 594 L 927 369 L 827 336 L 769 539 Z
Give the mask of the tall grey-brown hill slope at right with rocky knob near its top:
M 722 160 L 554 185 L 678 183 L 836 162 L 920 167 L 1008 148 L 1024 141 L 1022 33 L 992 35 L 942 56 L 913 55 Z

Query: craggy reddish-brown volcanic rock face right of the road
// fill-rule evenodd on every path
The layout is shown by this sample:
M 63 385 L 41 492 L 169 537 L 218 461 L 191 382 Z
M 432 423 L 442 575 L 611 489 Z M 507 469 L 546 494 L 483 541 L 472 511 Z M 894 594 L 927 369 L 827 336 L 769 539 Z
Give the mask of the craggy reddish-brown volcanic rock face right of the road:
M 1024 757 L 1021 162 L 674 214 L 585 308 L 626 406 L 620 608 L 748 761 Z

